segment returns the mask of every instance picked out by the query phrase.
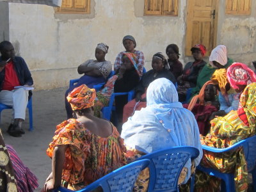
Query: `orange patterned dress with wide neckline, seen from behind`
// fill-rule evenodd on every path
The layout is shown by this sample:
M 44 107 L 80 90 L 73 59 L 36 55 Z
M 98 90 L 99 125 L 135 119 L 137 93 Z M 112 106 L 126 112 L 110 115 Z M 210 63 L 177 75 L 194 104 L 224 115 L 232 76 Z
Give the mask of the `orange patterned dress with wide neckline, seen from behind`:
M 49 157 L 52 157 L 54 147 L 58 145 L 69 145 L 62 172 L 65 188 L 77 189 L 76 185 L 87 186 L 127 164 L 124 140 L 120 138 L 115 126 L 108 138 L 101 138 L 71 118 L 57 125 L 53 141 L 46 151 Z

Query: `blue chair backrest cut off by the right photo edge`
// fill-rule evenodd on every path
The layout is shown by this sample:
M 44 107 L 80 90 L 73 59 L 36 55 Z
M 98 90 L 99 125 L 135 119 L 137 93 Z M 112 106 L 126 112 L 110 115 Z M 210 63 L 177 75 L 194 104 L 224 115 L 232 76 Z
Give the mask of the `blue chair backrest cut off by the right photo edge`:
M 256 166 L 256 136 L 246 138 L 240 142 L 243 146 L 244 155 L 246 157 L 248 172 L 250 172 Z

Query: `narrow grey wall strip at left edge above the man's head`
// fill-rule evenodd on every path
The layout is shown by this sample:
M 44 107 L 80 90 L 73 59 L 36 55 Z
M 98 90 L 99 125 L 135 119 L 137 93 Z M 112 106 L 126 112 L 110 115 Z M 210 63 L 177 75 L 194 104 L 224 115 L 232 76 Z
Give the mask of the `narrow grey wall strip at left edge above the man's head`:
M 8 3 L 0 2 L 0 42 L 9 39 Z

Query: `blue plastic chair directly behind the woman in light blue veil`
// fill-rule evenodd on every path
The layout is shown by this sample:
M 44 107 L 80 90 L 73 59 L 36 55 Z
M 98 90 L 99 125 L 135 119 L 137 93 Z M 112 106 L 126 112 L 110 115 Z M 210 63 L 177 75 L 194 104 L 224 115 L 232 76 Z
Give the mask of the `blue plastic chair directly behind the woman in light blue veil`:
M 195 159 L 199 150 L 195 147 L 172 147 L 159 150 L 138 158 L 149 159 L 150 178 L 148 192 L 179 191 L 180 172 L 188 159 Z

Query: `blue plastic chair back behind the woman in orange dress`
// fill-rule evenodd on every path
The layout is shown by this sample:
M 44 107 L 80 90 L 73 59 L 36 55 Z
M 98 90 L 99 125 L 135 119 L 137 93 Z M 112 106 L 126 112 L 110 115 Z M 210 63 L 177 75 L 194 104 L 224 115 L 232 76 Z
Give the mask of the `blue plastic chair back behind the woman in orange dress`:
M 144 159 L 122 166 L 121 168 L 118 168 L 108 175 L 105 175 L 104 177 L 96 180 L 85 188 L 78 190 L 77 192 L 92 191 L 99 186 L 103 189 L 104 192 L 132 191 L 138 175 L 140 174 L 141 170 L 148 166 L 149 162 L 150 161 L 148 159 Z M 60 187 L 54 192 L 58 191 L 70 192 L 72 190 Z

